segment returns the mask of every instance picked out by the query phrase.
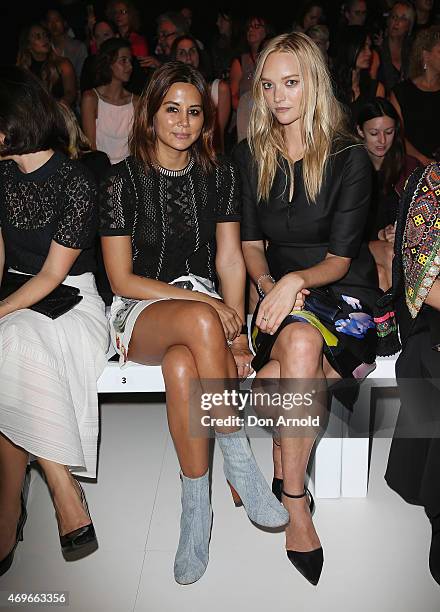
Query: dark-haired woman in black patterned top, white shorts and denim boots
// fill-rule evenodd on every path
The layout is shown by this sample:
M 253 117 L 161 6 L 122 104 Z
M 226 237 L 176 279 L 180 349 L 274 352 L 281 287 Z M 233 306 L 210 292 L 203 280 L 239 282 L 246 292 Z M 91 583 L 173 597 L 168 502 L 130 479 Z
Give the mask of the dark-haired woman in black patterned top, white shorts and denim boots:
M 181 467 L 174 563 L 180 584 L 198 580 L 208 564 L 209 429 L 201 426 L 200 394 L 235 389 L 237 368 L 240 378 L 248 376 L 251 360 L 238 176 L 230 161 L 217 159 L 213 131 L 201 74 L 181 62 L 165 64 L 136 108 L 131 156 L 112 168 L 101 189 L 102 249 L 117 296 L 110 330 L 120 365 L 160 364 L 165 379 Z M 242 431 L 216 424 L 220 414 L 232 418 L 233 409 L 222 405 L 210 414 L 226 477 L 248 516 L 261 525 L 285 524 L 287 513 Z

